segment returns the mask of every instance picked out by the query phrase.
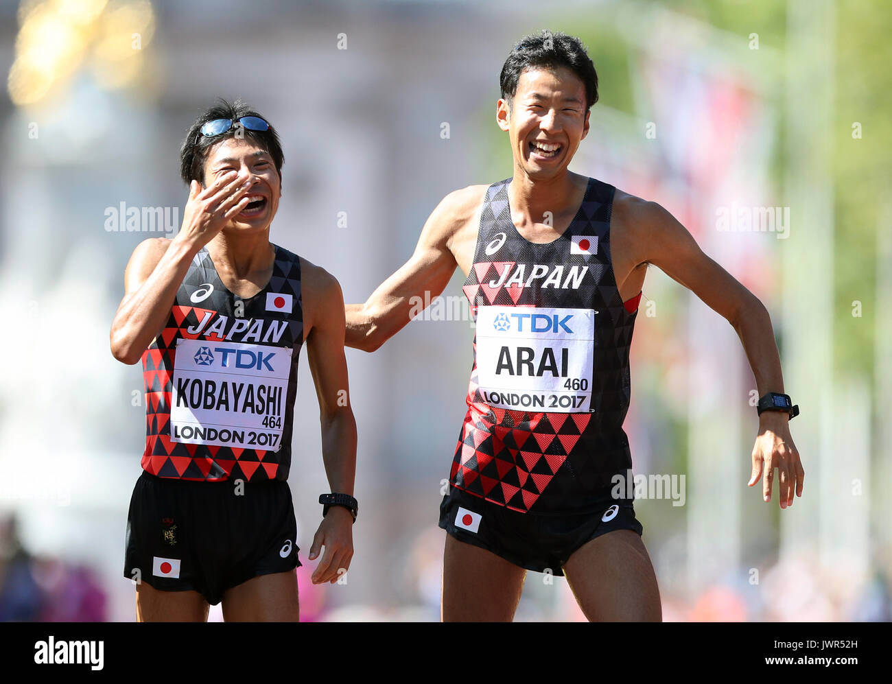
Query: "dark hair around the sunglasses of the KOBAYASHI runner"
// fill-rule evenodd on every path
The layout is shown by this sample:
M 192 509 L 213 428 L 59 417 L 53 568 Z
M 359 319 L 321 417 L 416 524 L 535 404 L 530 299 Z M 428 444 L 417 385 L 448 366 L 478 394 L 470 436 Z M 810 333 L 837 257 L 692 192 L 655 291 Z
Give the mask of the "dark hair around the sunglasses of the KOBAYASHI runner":
M 189 132 L 186 133 L 186 140 L 183 141 L 183 146 L 179 148 L 179 175 L 183 178 L 186 185 L 193 180 L 197 180 L 204 185 L 204 163 L 208 159 L 208 152 L 211 150 L 211 147 L 218 144 L 221 140 L 235 137 L 236 130 L 239 130 L 239 128 L 233 126 L 225 133 L 219 134 L 219 136 L 208 137 L 202 136 L 202 126 L 214 119 L 232 119 L 235 121 L 244 116 L 260 117 L 260 119 L 269 123 L 269 119 L 253 111 L 241 100 L 235 100 L 235 103 L 230 104 L 223 98 L 218 98 L 216 104 L 205 110 L 198 119 L 195 119 L 192 127 L 189 128 Z M 273 158 L 273 163 L 276 164 L 276 171 L 279 177 L 282 177 L 282 164 L 285 163 L 285 154 L 282 152 L 282 145 L 279 144 L 276 129 L 273 128 L 272 124 L 269 124 L 268 130 L 251 130 L 250 128 L 241 128 L 241 130 L 244 132 L 245 137 L 252 137 L 260 148 L 269 152 L 269 156 Z M 239 136 L 241 135 L 240 133 Z

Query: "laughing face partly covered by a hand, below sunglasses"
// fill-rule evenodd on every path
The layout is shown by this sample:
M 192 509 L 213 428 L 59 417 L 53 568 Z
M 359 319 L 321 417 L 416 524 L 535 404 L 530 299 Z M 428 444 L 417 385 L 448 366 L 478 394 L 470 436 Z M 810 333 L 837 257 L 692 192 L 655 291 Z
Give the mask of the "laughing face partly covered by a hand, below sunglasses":
M 248 205 L 229 219 L 227 228 L 265 230 L 272 223 L 282 194 L 282 179 L 272 156 L 251 136 L 229 137 L 215 144 L 204 163 L 204 187 L 213 185 L 229 171 L 253 181 L 247 190 Z

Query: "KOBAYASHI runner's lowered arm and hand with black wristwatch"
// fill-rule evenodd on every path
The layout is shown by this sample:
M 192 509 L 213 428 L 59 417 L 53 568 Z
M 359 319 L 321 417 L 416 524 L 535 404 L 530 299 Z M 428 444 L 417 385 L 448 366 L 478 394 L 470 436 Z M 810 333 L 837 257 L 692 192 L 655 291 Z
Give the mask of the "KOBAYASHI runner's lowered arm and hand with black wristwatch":
M 312 307 L 312 328 L 307 336 L 307 359 L 319 401 L 322 460 L 331 491 L 353 495 L 356 476 L 356 420 L 350 406 L 347 360 L 343 353 L 343 294 L 335 278 L 303 261 L 305 301 Z M 353 557 L 353 517 L 346 508 L 333 506 L 319 524 L 310 560 L 322 547 L 326 552 L 313 572 L 314 584 L 340 577 Z

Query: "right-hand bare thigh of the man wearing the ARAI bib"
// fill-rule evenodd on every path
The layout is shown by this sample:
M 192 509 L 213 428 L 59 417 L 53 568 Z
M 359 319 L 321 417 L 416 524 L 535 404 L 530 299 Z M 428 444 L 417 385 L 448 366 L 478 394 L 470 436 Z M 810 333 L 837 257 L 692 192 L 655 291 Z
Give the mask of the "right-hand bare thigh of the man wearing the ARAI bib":
M 564 573 L 590 621 L 661 622 L 657 575 L 632 530 L 607 532 L 578 548 Z

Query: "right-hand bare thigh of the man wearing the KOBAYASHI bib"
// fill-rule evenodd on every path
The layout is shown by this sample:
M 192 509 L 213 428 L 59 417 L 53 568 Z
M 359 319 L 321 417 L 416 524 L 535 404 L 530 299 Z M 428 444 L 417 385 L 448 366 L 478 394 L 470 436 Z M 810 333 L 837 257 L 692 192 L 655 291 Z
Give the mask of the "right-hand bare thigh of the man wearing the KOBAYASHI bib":
M 297 573 L 252 577 L 223 593 L 226 622 L 299 622 Z

